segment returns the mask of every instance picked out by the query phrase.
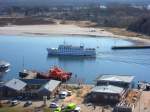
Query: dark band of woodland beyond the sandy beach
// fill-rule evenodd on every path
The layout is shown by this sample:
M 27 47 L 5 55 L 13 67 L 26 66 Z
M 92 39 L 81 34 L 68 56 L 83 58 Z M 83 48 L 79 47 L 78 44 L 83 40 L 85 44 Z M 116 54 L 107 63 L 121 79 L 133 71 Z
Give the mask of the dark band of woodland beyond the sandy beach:
M 74 21 L 92 21 L 97 27 L 119 27 L 128 30 L 146 33 L 149 30 L 150 10 L 144 7 L 133 7 L 128 4 L 109 4 L 101 8 L 99 5 L 91 4 L 82 7 L 64 6 L 64 7 L 7 7 L 0 11 L 1 16 L 10 17 L 21 16 L 23 18 L 51 18 Z M 146 17 L 146 18 L 142 18 Z M 31 19 L 32 20 L 32 19 Z M 45 19 L 40 19 L 41 23 Z M 136 22 L 135 22 L 136 21 Z M 8 22 L 8 21 L 7 21 Z M 31 22 L 32 23 L 32 22 Z M 21 24 L 21 23 L 20 23 Z M 146 29 L 145 29 L 146 28 Z M 148 31 L 147 31 L 148 30 Z M 149 33 L 146 33 L 149 35 Z

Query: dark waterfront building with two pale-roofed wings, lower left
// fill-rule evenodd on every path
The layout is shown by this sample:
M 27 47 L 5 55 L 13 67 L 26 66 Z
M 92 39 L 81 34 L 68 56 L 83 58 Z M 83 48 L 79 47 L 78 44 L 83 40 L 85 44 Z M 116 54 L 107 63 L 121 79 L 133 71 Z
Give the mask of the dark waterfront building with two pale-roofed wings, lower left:
M 3 85 L 4 97 L 23 96 L 31 99 L 51 98 L 61 82 L 45 79 L 12 79 Z

